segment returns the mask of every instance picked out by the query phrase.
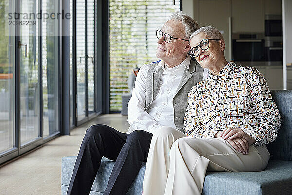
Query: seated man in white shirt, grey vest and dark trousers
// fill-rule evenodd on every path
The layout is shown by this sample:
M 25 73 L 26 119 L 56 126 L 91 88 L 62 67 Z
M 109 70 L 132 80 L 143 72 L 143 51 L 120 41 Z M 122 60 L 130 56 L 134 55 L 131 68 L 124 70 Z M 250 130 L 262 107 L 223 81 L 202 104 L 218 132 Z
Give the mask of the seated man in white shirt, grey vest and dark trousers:
M 187 94 L 207 74 L 187 56 L 188 39 L 196 29 L 196 21 L 175 12 L 156 31 L 156 56 L 161 60 L 142 66 L 137 75 L 128 103 L 128 133 L 100 124 L 86 131 L 67 195 L 89 194 L 102 156 L 116 161 L 104 195 L 126 194 L 146 162 L 152 133 L 164 128 L 183 131 Z

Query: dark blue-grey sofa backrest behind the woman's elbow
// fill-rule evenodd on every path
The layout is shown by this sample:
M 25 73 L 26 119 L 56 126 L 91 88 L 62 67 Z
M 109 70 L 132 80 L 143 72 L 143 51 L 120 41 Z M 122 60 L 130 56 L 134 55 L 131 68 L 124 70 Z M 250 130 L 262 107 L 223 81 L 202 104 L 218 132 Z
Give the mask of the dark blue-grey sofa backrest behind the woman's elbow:
M 276 140 L 267 144 L 271 160 L 292 160 L 292 90 L 271 90 L 280 111 L 281 127 Z

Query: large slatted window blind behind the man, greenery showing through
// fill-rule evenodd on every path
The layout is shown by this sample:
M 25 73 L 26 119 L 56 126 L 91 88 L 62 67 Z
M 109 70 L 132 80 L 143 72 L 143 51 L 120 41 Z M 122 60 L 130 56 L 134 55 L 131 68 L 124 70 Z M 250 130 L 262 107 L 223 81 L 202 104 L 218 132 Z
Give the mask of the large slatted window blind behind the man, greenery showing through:
M 110 111 L 122 109 L 128 76 L 156 61 L 156 30 L 180 10 L 180 0 L 110 0 Z

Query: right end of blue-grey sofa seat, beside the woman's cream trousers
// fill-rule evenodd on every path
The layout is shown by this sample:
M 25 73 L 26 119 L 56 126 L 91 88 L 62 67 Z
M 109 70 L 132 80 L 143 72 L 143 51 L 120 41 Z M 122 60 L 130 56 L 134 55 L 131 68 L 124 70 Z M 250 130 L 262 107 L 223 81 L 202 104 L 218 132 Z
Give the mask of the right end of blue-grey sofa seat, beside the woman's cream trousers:
M 270 160 L 259 172 L 207 172 L 202 195 L 292 195 L 292 161 Z

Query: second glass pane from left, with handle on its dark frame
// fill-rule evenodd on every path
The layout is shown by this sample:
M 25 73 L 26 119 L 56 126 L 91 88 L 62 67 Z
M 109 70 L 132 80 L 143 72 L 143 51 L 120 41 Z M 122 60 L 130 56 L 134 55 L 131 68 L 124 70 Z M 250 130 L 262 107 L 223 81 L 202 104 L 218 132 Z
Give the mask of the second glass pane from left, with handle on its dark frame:
M 19 13 L 37 14 L 38 0 L 19 0 Z M 24 22 L 24 17 L 16 20 Z M 40 137 L 39 128 L 39 20 L 32 25 L 19 27 L 20 71 L 20 145 L 26 145 Z

